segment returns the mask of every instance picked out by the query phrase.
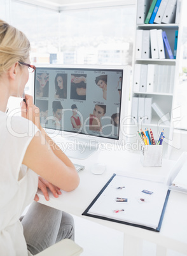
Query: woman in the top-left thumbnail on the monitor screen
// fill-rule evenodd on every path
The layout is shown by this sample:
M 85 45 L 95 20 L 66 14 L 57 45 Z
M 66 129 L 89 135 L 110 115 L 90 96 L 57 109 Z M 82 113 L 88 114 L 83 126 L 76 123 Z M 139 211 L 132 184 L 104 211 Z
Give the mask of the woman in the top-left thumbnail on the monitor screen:
M 49 94 L 49 74 L 42 73 L 36 76 L 36 96 L 37 97 L 48 97 Z

